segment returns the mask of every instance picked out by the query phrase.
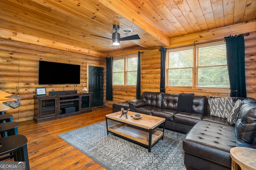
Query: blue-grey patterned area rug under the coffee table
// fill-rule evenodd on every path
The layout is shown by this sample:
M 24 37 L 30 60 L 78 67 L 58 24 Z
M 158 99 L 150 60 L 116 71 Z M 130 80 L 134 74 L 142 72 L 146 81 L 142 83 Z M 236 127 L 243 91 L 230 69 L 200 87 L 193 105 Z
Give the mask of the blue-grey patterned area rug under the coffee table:
M 164 140 L 148 152 L 147 148 L 112 133 L 107 136 L 105 121 L 58 135 L 107 170 L 186 170 L 184 136 L 165 129 Z

